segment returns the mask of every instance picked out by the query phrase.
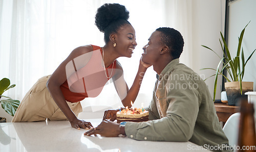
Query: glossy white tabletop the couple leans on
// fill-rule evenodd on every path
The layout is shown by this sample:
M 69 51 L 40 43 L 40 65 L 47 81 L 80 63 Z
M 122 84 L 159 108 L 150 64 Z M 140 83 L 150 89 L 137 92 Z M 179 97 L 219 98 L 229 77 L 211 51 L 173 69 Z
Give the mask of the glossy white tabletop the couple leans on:
M 87 120 L 97 126 L 101 119 Z M 88 137 L 69 121 L 0 123 L 0 151 L 209 151 L 191 142 L 137 141 L 127 137 Z M 193 150 L 194 149 L 194 150 Z

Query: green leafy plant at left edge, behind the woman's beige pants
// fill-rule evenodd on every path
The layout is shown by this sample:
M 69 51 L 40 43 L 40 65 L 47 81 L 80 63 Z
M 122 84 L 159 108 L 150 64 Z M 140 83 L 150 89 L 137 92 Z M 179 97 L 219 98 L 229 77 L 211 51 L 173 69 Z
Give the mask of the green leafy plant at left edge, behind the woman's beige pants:
M 0 103 L 3 107 L 3 109 L 8 113 L 10 114 L 11 116 L 14 116 L 17 108 L 18 108 L 18 105 L 19 105 L 19 100 L 14 100 L 8 96 L 3 96 L 2 94 L 11 89 L 11 88 L 14 88 L 15 84 L 12 84 L 10 85 L 10 80 L 7 79 L 7 78 L 3 78 L 1 81 L 0 81 L 0 98 L 1 97 L 5 97 L 6 99 L 3 99 L 3 100 L 0 100 Z

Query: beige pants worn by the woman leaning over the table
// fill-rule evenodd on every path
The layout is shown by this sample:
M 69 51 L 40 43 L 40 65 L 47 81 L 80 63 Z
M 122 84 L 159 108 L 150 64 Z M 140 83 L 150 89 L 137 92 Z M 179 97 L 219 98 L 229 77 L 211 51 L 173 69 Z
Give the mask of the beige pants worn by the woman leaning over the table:
M 68 120 L 53 100 L 46 87 L 49 76 L 40 78 L 20 102 L 12 122 L 33 122 L 49 120 Z M 69 107 L 77 116 L 82 112 L 80 102 L 69 102 Z

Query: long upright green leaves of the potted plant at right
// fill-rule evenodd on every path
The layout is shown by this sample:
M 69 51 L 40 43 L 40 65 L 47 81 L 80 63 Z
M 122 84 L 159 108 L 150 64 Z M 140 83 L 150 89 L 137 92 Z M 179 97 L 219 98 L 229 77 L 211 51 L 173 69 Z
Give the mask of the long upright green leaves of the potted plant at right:
M 250 21 L 249 21 L 249 23 L 250 23 Z M 245 28 L 248 26 L 248 24 L 245 26 Z M 242 47 L 242 40 L 243 40 L 245 28 L 242 30 L 242 32 L 240 34 L 240 37 L 238 37 L 237 56 L 234 57 L 233 59 L 230 56 L 229 49 L 227 47 L 226 41 L 225 41 L 225 39 L 223 37 L 223 34 L 221 32 L 220 33 L 221 33 L 222 42 L 221 42 L 221 39 L 219 39 L 219 41 L 220 41 L 220 44 L 221 44 L 222 52 L 224 54 L 223 58 L 221 58 L 215 51 L 213 51 L 210 48 L 202 45 L 202 47 L 207 48 L 210 51 L 214 52 L 220 58 L 220 62 L 218 64 L 218 66 L 217 66 L 217 69 L 212 69 L 212 68 L 200 69 L 200 70 L 210 69 L 210 70 L 216 71 L 216 74 L 210 76 L 210 77 L 215 76 L 215 81 L 214 81 L 214 101 L 215 101 L 215 96 L 216 96 L 216 88 L 217 88 L 218 75 L 222 75 L 228 82 L 231 82 L 231 80 L 232 81 L 239 81 L 240 82 L 241 95 L 242 95 L 242 80 L 243 80 L 243 77 L 244 77 L 245 66 L 246 66 L 248 60 L 251 58 L 251 56 L 253 55 L 253 53 L 256 50 L 255 49 L 250 54 L 250 56 L 247 58 L 247 60 L 245 61 L 244 50 L 243 50 L 243 47 Z M 223 43 L 224 47 L 223 47 L 222 43 Z M 242 51 L 241 51 L 241 47 L 242 47 Z M 224 48 L 226 50 L 226 53 L 224 51 Z M 220 66 L 221 66 L 222 63 L 223 63 L 223 67 L 220 70 Z M 227 74 L 230 76 L 230 79 L 228 79 L 227 76 L 223 75 L 223 71 L 225 69 L 227 70 Z M 208 78 L 210 78 L 210 77 L 208 77 Z M 206 78 L 206 79 L 208 79 L 208 78 Z

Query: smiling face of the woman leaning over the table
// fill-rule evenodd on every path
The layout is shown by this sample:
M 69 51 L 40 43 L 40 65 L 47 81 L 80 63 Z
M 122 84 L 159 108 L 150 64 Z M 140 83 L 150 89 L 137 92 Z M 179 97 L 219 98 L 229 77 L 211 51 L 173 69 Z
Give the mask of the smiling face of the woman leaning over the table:
M 137 46 L 135 30 L 131 25 L 121 27 L 116 35 L 116 49 L 120 56 L 132 57 Z

